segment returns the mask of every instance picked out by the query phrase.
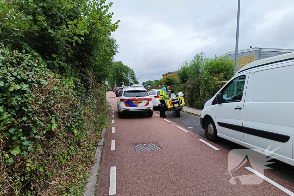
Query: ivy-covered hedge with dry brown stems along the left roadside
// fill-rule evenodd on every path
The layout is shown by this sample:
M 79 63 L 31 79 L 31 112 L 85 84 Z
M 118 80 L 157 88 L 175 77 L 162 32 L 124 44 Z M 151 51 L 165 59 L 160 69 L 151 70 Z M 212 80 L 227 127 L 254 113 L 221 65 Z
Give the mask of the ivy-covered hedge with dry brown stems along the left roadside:
M 95 117 L 106 111 L 105 89 L 94 85 L 86 103 L 37 54 L 1 48 L 1 194 L 59 195 L 84 180 L 100 134 Z

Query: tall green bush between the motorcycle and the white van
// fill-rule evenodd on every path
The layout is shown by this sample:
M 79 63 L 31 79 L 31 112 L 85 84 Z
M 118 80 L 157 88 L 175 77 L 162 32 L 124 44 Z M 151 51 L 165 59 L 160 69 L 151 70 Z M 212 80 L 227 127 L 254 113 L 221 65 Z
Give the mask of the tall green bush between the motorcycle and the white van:
M 188 96 L 188 106 L 202 109 L 204 103 L 212 98 L 223 81 L 229 80 L 234 74 L 234 61 L 227 57 L 207 58 L 204 53 L 197 54 L 193 60 L 185 61 L 178 69 L 180 78 Z M 183 88 L 178 87 L 183 90 Z

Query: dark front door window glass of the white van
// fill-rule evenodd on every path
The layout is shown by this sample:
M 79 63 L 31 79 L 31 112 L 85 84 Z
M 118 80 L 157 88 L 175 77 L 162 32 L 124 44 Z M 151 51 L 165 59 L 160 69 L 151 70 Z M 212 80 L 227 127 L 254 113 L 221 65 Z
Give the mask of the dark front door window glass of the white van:
M 223 102 L 240 101 L 243 97 L 246 76 L 240 76 L 230 81 L 222 90 Z

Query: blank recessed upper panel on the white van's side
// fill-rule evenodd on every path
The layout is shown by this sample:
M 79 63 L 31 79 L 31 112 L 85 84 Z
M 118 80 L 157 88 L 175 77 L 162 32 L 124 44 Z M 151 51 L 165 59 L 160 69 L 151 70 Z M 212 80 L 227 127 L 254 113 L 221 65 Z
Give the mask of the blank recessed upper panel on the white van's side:
M 249 100 L 252 102 L 294 102 L 294 65 L 252 74 Z

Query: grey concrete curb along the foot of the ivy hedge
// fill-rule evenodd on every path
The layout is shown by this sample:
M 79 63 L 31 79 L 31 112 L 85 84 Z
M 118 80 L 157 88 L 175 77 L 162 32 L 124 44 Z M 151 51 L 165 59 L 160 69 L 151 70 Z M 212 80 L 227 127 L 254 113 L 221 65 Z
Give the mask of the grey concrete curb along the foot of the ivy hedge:
M 109 116 L 110 116 L 110 107 L 108 104 L 108 117 L 107 117 L 107 121 L 109 120 Z M 104 146 L 104 138 L 105 138 L 105 134 L 106 134 L 106 128 L 102 129 L 101 132 L 101 138 L 99 139 L 99 142 L 97 144 L 97 148 L 96 148 L 96 153 L 95 153 L 95 162 L 92 165 L 92 172 L 90 173 L 90 177 L 88 179 L 88 183 L 86 186 L 86 190 L 84 192 L 84 196 L 94 196 L 95 195 L 95 185 L 97 182 L 97 174 L 98 174 L 98 168 L 101 162 L 101 155 L 102 155 L 102 151 L 101 149 Z

